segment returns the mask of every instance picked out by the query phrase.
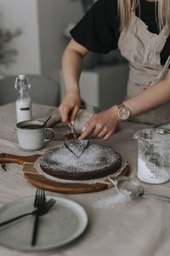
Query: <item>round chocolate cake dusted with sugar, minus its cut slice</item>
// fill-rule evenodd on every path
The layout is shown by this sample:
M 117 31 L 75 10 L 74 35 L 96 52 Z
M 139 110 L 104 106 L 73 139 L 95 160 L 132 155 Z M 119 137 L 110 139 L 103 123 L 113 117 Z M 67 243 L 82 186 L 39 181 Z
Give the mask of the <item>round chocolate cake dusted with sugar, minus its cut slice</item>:
M 59 146 L 39 158 L 43 172 L 67 180 L 89 180 L 106 177 L 122 165 L 122 157 L 114 148 L 89 144 L 80 157 L 69 148 Z

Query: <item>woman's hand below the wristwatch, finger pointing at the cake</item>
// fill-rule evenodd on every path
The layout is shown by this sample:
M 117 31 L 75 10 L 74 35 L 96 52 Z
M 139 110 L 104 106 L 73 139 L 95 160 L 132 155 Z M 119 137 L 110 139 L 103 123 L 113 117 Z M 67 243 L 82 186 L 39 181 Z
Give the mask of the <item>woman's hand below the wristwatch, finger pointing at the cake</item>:
M 101 113 L 96 113 L 94 117 L 86 123 L 85 130 L 78 139 L 82 140 L 88 135 L 92 135 L 93 137 L 103 137 L 104 140 L 107 140 L 116 131 L 116 127 L 119 123 L 120 120 L 117 116 L 117 108 L 114 106 Z

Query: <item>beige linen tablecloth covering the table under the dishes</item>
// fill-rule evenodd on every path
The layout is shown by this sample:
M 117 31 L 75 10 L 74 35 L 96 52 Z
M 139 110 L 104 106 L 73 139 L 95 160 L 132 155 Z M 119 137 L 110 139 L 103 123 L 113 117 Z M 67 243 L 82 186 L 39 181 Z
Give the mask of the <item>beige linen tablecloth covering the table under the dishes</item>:
M 33 105 L 34 119 L 48 116 L 51 107 Z M 0 153 L 30 155 L 20 149 L 17 143 L 14 103 L 0 107 Z M 131 177 L 136 176 L 138 144 L 133 140 L 135 131 L 150 127 L 150 125 L 123 123 L 121 130 L 116 132 L 109 141 L 94 139 L 94 143 L 116 148 L 116 151 L 127 159 Z M 46 148 L 54 148 L 63 143 L 55 140 Z M 36 188 L 23 177 L 22 166 L 7 164 L 7 172 L 0 167 L 0 206 L 15 199 L 35 195 Z M 142 183 L 144 189 L 161 195 L 170 195 L 170 183 L 150 185 Z M 167 256 L 170 252 L 170 204 L 163 201 L 140 199 L 133 202 L 118 204 L 101 203 L 117 198 L 116 189 L 104 191 L 65 195 L 47 191 L 46 195 L 56 195 L 77 201 L 88 212 L 89 224 L 84 235 L 66 247 L 49 253 L 19 253 L 5 247 L 0 247 L 0 255 L 117 255 L 117 256 Z M 98 202 L 98 204 L 96 204 Z M 100 207 L 99 207 L 100 206 Z

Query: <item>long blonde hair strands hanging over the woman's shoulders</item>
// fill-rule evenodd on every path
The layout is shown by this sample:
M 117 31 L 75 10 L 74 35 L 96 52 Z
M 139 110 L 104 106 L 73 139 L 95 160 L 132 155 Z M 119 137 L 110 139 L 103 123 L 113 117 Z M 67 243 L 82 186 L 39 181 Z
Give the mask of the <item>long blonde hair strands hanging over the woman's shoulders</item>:
M 126 28 L 131 19 L 131 13 L 139 8 L 140 13 L 140 0 L 117 0 L 118 11 L 121 19 L 120 29 Z M 156 17 L 159 29 L 166 26 L 167 35 L 170 34 L 170 0 L 158 0 L 158 17 Z

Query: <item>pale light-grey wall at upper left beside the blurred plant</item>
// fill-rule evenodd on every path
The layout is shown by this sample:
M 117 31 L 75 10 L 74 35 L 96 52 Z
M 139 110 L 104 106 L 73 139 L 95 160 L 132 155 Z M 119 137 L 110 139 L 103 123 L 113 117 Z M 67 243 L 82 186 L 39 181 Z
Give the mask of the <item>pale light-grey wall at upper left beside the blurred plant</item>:
M 37 0 L 0 0 L 0 26 L 23 30 L 23 34 L 8 45 L 18 51 L 8 74 L 41 73 L 37 20 Z

